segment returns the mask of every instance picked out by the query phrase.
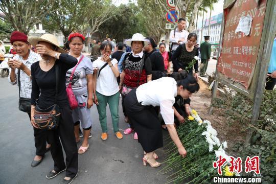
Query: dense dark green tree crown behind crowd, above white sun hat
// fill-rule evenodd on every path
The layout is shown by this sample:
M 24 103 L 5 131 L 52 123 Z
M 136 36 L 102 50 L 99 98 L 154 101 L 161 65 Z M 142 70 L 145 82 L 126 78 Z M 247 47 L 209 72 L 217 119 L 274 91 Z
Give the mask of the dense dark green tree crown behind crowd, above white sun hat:
M 112 11 L 116 12 L 116 15 L 105 21 L 99 28 L 102 38 L 111 37 L 119 42 L 131 38 L 134 33 L 145 34 L 145 27 L 141 23 L 143 16 L 135 4 L 121 4 L 119 7 L 114 7 Z

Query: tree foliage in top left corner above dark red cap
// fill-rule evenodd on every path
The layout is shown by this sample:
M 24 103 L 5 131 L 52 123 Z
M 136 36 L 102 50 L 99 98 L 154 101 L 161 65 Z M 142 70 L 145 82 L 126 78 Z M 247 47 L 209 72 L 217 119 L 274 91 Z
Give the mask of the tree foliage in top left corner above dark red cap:
M 54 0 L 5 0 L 0 2 L 0 11 L 14 30 L 28 34 L 52 10 L 53 3 Z

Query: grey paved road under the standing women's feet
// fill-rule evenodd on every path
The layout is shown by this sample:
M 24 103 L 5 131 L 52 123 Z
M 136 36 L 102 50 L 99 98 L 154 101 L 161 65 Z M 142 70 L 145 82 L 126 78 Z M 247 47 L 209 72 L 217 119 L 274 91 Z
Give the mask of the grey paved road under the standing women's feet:
M 45 178 L 53 169 L 50 152 L 39 166 L 31 167 L 35 154 L 34 136 L 28 115 L 17 108 L 18 88 L 10 85 L 7 78 L 0 78 L 0 85 L 0 183 L 59 183 L 65 173 L 51 180 Z M 124 136 L 123 140 L 116 139 L 109 111 L 109 137 L 105 142 L 100 139 L 96 106 L 91 109 L 91 117 L 93 137 L 89 140 L 88 152 L 79 155 L 78 177 L 73 183 L 165 183 L 166 176 L 158 173 L 160 168 L 143 166 L 143 150 L 133 140 L 133 134 Z M 127 128 L 121 105 L 119 125 L 121 129 Z M 164 150 L 159 149 L 156 153 L 162 157 Z

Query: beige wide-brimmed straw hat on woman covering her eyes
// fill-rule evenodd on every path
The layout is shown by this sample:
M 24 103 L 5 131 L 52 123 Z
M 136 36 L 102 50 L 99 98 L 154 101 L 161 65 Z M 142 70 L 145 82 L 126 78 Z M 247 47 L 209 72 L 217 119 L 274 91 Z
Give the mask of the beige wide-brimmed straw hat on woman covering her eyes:
M 45 42 L 48 42 L 48 43 L 51 43 L 51 44 L 55 45 L 57 47 L 56 51 L 59 52 L 59 53 L 68 53 L 67 51 L 65 51 L 64 49 L 61 49 L 59 47 L 57 37 L 55 37 L 52 34 L 43 34 L 40 37 L 30 36 L 28 38 L 28 42 L 31 43 L 34 46 L 36 46 L 39 41 L 45 41 Z

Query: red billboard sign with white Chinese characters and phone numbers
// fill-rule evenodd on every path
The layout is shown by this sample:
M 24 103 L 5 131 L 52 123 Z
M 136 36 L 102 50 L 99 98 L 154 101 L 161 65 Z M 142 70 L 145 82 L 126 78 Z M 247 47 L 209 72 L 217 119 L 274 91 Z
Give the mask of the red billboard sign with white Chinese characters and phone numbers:
M 266 0 L 237 0 L 224 10 L 224 33 L 217 70 L 248 89 L 254 74 L 263 31 Z M 249 35 L 235 33 L 241 17 L 252 18 Z

